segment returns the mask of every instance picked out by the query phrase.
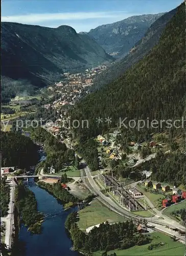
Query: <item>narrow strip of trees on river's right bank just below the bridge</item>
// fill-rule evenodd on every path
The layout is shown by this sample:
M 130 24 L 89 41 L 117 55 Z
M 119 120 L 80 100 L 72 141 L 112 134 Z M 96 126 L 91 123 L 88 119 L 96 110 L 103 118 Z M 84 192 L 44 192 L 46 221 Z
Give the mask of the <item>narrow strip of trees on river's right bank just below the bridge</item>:
M 54 195 L 54 197 L 61 200 L 63 203 L 78 202 L 78 198 L 76 198 L 72 194 L 70 194 L 65 188 L 62 188 L 61 182 L 57 182 L 57 183 L 54 183 L 53 185 L 51 185 L 49 183 L 39 181 L 38 186 L 47 190 L 49 193 Z

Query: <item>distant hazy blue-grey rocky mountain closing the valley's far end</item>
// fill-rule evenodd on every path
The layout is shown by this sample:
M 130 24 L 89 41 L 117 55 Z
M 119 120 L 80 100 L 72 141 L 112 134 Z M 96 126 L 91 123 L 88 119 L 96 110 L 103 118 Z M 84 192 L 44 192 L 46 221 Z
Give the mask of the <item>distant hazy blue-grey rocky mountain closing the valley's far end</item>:
M 118 56 L 124 56 L 162 14 L 164 13 L 132 16 L 91 29 L 87 34 L 95 38 L 106 52 L 119 52 Z

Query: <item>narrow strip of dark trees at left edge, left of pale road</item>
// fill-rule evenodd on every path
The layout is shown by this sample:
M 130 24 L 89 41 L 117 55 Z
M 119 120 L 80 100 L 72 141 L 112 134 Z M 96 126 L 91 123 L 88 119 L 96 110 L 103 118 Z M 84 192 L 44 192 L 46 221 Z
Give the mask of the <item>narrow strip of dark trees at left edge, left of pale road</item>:
M 6 184 L 6 177 L 1 179 L 1 217 L 8 214 L 8 204 L 10 201 L 10 187 Z

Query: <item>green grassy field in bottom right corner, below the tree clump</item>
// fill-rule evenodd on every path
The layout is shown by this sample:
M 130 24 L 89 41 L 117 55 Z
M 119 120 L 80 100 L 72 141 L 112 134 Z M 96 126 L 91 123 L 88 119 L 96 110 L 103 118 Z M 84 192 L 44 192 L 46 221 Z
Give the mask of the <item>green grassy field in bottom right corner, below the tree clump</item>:
M 107 252 L 108 255 L 115 252 L 117 256 L 145 256 L 145 255 L 154 255 L 154 256 L 183 256 L 184 255 L 184 245 L 179 242 L 174 242 L 169 236 L 160 232 L 153 232 L 150 234 L 153 239 L 151 243 L 162 242 L 165 245 L 155 248 L 153 250 L 148 250 L 147 245 L 134 246 L 126 250 L 114 250 Z M 101 256 L 102 252 L 97 251 L 94 253 L 95 256 Z

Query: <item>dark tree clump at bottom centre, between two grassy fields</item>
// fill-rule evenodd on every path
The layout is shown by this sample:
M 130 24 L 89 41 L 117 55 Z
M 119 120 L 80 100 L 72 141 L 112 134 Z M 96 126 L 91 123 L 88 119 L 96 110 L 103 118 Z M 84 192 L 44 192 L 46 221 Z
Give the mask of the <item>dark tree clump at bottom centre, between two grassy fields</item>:
M 150 243 L 150 238 L 138 234 L 136 224 L 132 221 L 120 222 L 110 225 L 101 223 L 85 234 L 77 226 L 78 214 L 72 212 L 68 215 L 65 227 L 71 232 L 74 249 L 90 254 L 94 251 L 109 251 L 114 249 L 127 249 L 135 245 Z M 88 255 L 89 255 L 88 254 Z

